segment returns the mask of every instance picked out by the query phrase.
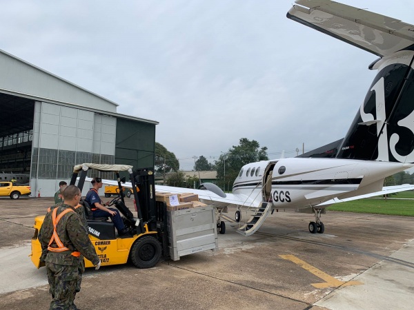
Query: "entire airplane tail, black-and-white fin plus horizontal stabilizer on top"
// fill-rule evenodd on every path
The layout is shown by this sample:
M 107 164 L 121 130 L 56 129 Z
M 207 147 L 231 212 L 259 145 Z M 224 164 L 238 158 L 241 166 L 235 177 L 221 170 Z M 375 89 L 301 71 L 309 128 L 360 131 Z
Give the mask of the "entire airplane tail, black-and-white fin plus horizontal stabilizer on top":
M 382 56 L 336 157 L 414 163 L 414 25 L 335 1 L 296 3 L 288 18 Z

